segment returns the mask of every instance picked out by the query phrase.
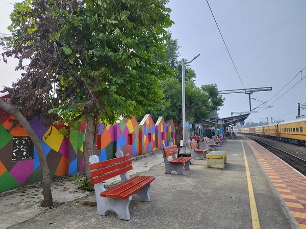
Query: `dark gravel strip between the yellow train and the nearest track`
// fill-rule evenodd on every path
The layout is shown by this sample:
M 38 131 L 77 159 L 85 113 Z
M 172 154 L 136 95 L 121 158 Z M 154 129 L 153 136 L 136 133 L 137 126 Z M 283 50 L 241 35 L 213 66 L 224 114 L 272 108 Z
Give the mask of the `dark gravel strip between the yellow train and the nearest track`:
M 290 144 L 290 143 L 286 143 L 286 142 L 282 142 L 282 141 L 278 141 L 278 140 L 274 140 L 274 139 L 268 139 L 265 137 L 258 137 L 258 136 L 253 136 L 250 135 L 250 137 L 258 139 L 260 141 L 263 141 L 271 146 L 274 146 L 278 149 L 284 150 L 296 157 L 299 157 L 303 160 L 306 160 L 306 147 L 302 147 L 302 146 L 297 146 L 295 144 Z

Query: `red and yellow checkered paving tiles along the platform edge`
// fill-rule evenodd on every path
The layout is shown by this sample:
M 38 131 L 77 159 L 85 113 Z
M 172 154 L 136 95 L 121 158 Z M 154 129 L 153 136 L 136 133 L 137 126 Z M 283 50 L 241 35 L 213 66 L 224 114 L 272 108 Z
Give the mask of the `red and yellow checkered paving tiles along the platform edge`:
M 245 141 L 283 197 L 300 228 L 306 228 L 306 177 L 256 142 L 249 139 Z

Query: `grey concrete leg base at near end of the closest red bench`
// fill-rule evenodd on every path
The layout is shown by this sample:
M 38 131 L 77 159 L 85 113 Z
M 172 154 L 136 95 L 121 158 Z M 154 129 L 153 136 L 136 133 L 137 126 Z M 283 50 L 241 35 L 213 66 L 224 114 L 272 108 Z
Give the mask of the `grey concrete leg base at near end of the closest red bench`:
M 118 215 L 119 219 L 129 220 L 131 219 L 129 212 L 129 204 L 132 200 L 132 196 L 124 200 L 118 198 L 108 198 L 97 196 L 97 214 L 108 215 L 108 211 L 114 211 Z

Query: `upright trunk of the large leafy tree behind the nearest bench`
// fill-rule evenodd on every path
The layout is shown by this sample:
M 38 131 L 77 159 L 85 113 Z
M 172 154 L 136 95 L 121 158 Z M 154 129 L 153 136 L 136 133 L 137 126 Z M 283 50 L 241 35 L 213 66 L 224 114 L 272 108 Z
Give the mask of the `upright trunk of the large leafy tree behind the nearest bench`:
M 86 129 L 83 141 L 83 153 L 84 153 L 84 162 L 85 162 L 85 174 L 86 180 L 90 181 L 90 169 L 89 169 L 89 157 L 94 155 L 96 139 L 99 131 L 99 117 L 88 115 L 86 117 Z M 92 186 L 90 182 L 87 183 L 87 186 Z

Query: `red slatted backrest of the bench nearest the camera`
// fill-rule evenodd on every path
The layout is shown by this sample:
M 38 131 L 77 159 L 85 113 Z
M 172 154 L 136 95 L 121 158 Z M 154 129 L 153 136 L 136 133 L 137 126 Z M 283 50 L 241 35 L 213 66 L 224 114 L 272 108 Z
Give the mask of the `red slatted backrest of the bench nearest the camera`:
M 91 183 L 97 184 L 113 178 L 117 175 L 132 170 L 131 155 L 117 157 L 106 161 L 96 162 L 89 165 Z

